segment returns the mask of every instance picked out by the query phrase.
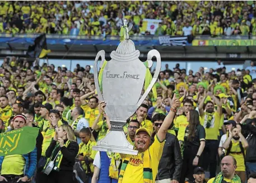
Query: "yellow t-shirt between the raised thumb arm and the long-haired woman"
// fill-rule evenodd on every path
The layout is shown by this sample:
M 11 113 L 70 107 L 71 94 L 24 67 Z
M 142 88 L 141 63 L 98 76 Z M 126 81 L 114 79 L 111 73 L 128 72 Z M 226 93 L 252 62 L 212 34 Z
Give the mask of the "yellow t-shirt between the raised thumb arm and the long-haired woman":
M 184 141 L 185 129 L 188 126 L 187 117 L 185 115 L 179 115 L 174 120 L 175 128 L 179 128 L 177 138 L 179 141 Z

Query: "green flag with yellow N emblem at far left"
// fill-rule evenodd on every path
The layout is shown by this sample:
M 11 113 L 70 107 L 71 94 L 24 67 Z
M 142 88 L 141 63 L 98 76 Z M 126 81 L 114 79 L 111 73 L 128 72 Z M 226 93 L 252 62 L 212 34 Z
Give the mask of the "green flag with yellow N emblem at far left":
M 23 127 L 0 133 L 0 156 L 25 155 L 34 150 L 39 128 Z

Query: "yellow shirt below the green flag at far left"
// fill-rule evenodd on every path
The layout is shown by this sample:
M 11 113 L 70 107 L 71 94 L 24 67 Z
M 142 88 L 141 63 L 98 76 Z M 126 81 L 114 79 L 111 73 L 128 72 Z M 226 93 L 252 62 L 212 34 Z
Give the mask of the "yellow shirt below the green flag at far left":
M 4 156 L 1 175 L 22 175 L 26 161 L 22 155 Z

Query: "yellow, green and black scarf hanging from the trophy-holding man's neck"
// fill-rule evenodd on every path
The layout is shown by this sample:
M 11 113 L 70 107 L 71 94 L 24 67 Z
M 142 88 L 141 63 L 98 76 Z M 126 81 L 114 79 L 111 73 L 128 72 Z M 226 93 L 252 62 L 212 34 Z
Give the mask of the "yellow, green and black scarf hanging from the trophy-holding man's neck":
M 125 168 L 127 167 L 130 159 L 131 159 L 131 155 L 125 157 L 121 166 L 118 183 L 122 183 Z M 143 182 L 144 183 L 153 182 L 152 168 L 150 167 L 150 151 L 149 150 L 146 150 L 143 154 Z

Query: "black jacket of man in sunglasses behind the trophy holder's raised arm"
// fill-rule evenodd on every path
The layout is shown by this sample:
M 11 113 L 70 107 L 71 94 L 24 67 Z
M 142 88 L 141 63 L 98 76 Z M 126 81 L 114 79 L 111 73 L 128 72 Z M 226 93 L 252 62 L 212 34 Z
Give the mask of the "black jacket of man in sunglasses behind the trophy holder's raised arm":
M 180 181 L 182 157 L 179 141 L 173 134 L 166 133 L 164 150 L 158 166 L 156 180 Z

